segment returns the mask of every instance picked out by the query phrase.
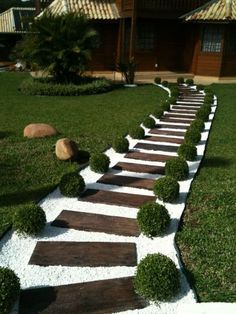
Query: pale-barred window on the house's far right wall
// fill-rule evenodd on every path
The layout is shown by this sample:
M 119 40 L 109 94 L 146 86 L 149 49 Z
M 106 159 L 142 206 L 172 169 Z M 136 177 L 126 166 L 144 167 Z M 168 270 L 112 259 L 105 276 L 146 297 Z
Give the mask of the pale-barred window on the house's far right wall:
M 222 28 L 218 25 L 206 26 L 203 31 L 202 51 L 221 52 L 222 48 Z

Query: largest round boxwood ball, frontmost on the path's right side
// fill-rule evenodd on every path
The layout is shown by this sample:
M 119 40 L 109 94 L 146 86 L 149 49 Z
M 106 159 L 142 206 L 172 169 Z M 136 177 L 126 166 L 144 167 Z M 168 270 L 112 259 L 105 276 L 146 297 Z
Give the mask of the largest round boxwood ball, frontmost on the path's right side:
M 180 274 L 169 257 L 148 254 L 138 264 L 134 287 L 149 301 L 169 301 L 180 290 Z

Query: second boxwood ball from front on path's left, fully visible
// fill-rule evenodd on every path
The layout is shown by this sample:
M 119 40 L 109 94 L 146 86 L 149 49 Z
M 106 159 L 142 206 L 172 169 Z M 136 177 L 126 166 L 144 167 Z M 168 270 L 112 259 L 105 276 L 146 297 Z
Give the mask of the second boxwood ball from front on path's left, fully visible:
M 12 227 L 17 233 L 34 236 L 39 234 L 46 224 L 43 209 L 36 204 L 19 207 L 12 218 Z

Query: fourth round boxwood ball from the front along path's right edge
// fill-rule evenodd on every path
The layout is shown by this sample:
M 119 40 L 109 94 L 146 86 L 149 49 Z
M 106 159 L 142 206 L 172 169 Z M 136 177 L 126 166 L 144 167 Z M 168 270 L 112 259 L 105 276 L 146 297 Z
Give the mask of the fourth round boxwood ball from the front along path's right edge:
M 187 179 L 189 168 L 186 160 L 181 157 L 167 160 L 165 165 L 165 175 L 173 177 L 178 181 Z

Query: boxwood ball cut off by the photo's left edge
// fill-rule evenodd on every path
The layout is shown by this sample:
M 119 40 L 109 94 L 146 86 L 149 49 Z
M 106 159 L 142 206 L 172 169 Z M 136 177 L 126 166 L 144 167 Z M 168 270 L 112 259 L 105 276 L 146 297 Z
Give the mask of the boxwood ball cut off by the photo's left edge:
M 0 313 L 8 314 L 19 296 L 20 280 L 13 270 L 0 267 Z

